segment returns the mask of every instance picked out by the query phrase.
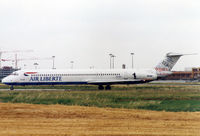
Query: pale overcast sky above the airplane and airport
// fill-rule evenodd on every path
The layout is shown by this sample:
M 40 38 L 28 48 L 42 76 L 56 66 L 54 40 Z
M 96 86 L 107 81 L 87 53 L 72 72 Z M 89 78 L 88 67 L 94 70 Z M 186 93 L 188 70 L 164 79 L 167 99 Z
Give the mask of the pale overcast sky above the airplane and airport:
M 200 54 L 199 0 L 0 0 L 0 49 L 27 50 L 18 58 L 56 56 L 56 68 L 153 68 L 167 52 Z M 3 54 L 2 58 L 14 58 Z M 51 68 L 52 61 L 20 67 Z M 199 67 L 185 56 L 174 70 Z M 7 62 L 3 65 L 12 65 Z

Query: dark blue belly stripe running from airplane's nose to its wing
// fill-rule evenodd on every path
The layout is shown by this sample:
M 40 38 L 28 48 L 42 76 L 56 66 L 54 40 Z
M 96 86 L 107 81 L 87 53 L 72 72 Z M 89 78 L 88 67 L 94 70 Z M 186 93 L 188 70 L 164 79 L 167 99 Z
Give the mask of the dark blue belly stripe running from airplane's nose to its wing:
M 6 85 L 81 85 L 87 82 L 6 82 Z

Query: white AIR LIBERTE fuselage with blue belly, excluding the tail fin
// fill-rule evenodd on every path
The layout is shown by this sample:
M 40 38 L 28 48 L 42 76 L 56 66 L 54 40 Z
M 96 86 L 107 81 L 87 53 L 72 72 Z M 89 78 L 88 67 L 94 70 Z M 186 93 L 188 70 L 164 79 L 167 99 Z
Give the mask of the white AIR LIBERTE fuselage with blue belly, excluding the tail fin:
M 156 70 L 19 70 L 4 78 L 7 85 L 136 84 L 157 79 Z

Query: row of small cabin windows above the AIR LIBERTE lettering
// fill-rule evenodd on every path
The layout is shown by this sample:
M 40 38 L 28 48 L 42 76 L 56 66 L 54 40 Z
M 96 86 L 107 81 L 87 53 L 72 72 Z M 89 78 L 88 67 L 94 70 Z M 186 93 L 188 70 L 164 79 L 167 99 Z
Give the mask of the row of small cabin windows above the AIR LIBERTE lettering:
M 117 73 L 102 73 L 102 74 L 34 74 L 31 76 L 120 76 Z

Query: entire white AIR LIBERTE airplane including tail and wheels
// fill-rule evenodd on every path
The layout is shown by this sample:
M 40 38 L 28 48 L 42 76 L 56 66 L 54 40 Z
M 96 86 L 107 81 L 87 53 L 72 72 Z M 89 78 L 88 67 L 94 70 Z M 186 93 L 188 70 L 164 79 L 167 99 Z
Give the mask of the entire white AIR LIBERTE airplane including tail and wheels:
M 2 80 L 10 90 L 18 85 L 98 85 L 99 90 L 111 90 L 114 84 L 141 84 L 158 80 L 172 74 L 171 69 L 183 55 L 167 53 L 165 58 L 153 69 L 89 69 L 57 70 L 32 69 L 19 70 Z

